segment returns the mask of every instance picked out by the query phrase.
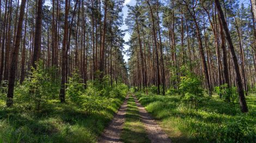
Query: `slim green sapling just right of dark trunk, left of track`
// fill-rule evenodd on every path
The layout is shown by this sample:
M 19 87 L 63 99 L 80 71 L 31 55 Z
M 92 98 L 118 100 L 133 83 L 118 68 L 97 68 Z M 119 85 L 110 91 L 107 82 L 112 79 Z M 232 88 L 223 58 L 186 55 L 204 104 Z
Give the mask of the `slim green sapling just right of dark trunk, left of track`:
M 69 77 L 69 82 L 66 84 L 66 96 L 76 105 L 81 105 L 82 102 L 81 95 L 84 93 L 84 84 L 82 82 L 83 79 L 78 74 L 78 70 L 75 70 L 72 76 Z

